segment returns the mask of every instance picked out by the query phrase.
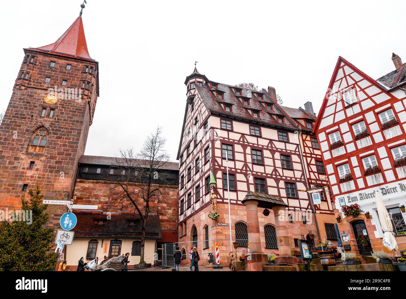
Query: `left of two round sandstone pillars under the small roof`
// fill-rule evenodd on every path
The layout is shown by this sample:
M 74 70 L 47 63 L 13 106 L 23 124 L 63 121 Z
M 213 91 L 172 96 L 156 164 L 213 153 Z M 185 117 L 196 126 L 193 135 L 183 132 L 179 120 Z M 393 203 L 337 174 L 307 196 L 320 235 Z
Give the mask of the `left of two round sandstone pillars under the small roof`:
M 262 253 L 261 236 L 259 234 L 258 201 L 244 202 L 247 214 L 248 242 L 250 242 L 250 255 L 245 260 L 246 271 L 263 271 L 268 263 L 268 255 Z

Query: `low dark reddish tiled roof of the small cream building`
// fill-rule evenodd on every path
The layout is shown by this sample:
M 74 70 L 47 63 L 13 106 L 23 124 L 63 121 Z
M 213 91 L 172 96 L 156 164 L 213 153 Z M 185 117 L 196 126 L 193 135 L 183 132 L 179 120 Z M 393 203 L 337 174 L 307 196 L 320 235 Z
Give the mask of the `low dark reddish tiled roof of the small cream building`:
M 75 212 L 78 224 L 72 229 L 75 237 L 95 238 L 141 238 L 141 223 L 138 214 L 112 214 L 107 220 L 107 214 L 100 212 Z M 99 220 L 104 220 L 99 224 Z M 135 224 L 130 224 L 135 221 Z M 146 238 L 162 238 L 160 219 L 158 215 L 149 215 L 145 227 Z

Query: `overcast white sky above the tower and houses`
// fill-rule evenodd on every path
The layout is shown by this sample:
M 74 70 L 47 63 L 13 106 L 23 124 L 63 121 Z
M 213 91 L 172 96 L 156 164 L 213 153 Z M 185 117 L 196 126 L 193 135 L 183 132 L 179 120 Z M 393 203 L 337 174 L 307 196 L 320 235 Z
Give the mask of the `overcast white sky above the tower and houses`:
M 84 31 L 99 61 L 100 97 L 86 155 L 140 148 L 158 125 L 175 161 L 186 102 L 199 72 L 226 84 L 274 86 L 284 105 L 320 109 L 338 56 L 374 79 L 406 61 L 404 1 L 88 0 Z M 80 0 L 3 1 L 0 110 L 6 109 L 24 47 L 54 42 Z M 111 138 L 108 138 L 111 132 Z

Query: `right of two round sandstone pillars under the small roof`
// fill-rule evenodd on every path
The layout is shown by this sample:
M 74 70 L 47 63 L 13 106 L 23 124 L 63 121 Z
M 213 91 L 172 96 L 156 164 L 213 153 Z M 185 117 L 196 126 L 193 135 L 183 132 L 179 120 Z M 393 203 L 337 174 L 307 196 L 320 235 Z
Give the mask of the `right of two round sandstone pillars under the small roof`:
M 275 259 L 275 263 L 293 265 L 299 270 L 297 265 L 298 260 L 292 256 L 290 251 L 289 233 L 287 231 L 286 223 L 287 215 L 285 214 L 287 213 L 286 209 L 284 206 L 276 206 L 273 207 L 272 210 L 275 215 L 276 240 L 278 241 L 279 249 L 279 257 Z M 279 215 L 281 215 L 281 217 L 279 217 Z

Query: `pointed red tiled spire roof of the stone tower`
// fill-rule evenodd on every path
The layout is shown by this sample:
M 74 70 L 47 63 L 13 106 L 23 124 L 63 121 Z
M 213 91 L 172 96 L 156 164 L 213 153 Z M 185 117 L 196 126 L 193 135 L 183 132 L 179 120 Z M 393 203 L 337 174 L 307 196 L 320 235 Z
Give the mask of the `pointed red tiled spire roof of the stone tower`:
M 39 48 L 29 48 L 29 50 L 48 52 L 68 57 L 92 59 L 89 55 L 89 50 L 87 50 L 81 16 L 79 16 L 68 30 L 54 43 Z

